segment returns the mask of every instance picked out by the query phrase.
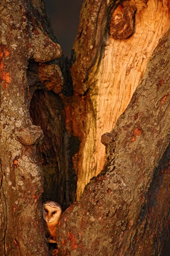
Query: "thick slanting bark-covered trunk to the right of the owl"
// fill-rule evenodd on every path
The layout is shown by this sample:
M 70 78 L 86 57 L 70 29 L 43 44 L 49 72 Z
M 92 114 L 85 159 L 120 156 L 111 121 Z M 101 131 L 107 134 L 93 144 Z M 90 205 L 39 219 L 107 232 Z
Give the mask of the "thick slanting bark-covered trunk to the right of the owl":
M 59 255 L 161 255 L 170 225 L 170 30 L 114 130 L 104 171 L 63 213 Z

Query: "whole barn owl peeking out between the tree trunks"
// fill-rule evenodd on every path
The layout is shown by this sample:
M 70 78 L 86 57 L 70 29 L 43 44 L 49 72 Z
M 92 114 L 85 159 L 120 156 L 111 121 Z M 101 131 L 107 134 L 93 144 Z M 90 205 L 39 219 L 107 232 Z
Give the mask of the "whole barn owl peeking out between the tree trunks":
M 42 204 L 45 236 L 48 239 L 56 240 L 56 230 L 59 217 L 62 214 L 61 206 L 54 201 L 47 201 Z

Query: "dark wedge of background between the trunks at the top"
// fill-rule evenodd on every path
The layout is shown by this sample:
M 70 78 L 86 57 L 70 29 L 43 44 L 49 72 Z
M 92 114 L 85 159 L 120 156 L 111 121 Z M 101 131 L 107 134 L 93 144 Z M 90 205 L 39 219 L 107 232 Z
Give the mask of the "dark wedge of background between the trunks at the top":
M 78 32 L 82 2 L 83 0 L 45 0 L 54 33 L 62 47 L 63 54 L 68 57 L 71 55 Z

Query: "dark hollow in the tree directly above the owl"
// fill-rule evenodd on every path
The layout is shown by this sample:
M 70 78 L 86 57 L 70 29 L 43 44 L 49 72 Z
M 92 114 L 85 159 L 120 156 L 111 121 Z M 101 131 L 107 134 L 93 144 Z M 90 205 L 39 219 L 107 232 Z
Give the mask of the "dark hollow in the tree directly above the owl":
M 44 176 L 43 201 L 57 201 L 66 209 L 75 199 L 76 175 L 70 154 L 70 136 L 65 128 L 62 100 L 52 91 L 36 90 L 30 104 L 34 125 L 39 125 L 44 140 L 37 146 L 38 163 Z

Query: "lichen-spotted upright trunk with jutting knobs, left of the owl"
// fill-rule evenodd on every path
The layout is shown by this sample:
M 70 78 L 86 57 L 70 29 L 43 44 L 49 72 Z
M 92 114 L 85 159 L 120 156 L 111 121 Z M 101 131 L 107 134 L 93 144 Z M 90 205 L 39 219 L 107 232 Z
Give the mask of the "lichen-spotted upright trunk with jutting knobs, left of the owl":
M 29 90 L 26 70 L 30 59 L 45 63 L 59 58 L 61 48 L 48 37 L 41 0 L 1 0 L 0 24 L 0 255 L 48 255 L 43 175 L 35 154 L 43 133 L 31 122 L 29 104 L 37 84 Z M 56 65 L 45 64 L 39 70 L 39 80 L 54 91 L 55 83 L 59 90 L 63 83 L 56 70 L 61 73 Z

